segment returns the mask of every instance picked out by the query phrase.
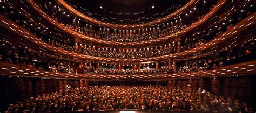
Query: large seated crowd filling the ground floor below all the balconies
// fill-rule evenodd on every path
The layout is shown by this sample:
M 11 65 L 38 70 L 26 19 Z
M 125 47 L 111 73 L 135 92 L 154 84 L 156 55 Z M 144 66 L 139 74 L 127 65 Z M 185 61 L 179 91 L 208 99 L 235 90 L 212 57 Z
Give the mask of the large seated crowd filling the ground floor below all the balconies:
M 76 111 L 253 112 L 246 103 L 215 96 L 205 89 L 165 86 L 89 86 L 68 88 L 10 104 L 6 112 Z

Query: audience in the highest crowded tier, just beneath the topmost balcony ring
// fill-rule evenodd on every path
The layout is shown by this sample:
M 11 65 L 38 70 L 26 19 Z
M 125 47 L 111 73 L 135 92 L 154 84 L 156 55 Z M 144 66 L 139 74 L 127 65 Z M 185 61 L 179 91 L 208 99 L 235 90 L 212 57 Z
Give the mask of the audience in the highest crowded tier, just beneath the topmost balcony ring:
M 63 24 L 64 25 L 64 24 Z M 156 29 L 145 32 L 140 32 L 137 30 L 137 33 L 110 33 L 107 31 L 95 31 L 90 27 L 81 27 L 76 25 L 65 24 L 66 28 L 84 34 L 85 36 L 89 36 L 92 38 L 108 40 L 108 41 L 122 41 L 122 42 L 134 42 L 134 41 L 145 41 L 157 39 L 165 36 L 169 36 L 170 34 L 176 33 L 180 30 L 185 29 L 186 25 L 177 25 L 177 26 L 169 26 L 164 29 Z

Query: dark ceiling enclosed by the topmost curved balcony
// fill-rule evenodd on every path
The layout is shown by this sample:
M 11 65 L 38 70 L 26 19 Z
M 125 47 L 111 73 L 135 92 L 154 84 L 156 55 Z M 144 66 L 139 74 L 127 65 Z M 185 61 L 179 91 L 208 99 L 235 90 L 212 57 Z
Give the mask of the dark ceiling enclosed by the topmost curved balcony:
M 188 0 L 65 0 L 65 2 L 96 19 L 132 24 L 164 17 L 184 6 Z

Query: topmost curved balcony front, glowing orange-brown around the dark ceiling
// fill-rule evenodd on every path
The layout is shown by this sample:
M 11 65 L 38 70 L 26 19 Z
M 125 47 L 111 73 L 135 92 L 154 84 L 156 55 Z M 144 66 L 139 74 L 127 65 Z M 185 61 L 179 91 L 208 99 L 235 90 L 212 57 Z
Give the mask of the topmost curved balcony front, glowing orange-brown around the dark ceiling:
M 97 24 L 100 26 L 105 26 L 105 27 L 110 27 L 110 28 L 114 28 L 114 29 L 139 29 L 139 28 L 143 28 L 143 27 L 149 27 L 152 25 L 157 25 L 157 24 L 161 24 L 166 22 L 167 20 L 173 19 L 175 17 L 177 17 L 177 15 L 180 15 L 181 13 L 187 12 L 188 10 L 190 10 L 191 8 L 193 8 L 193 6 L 198 3 L 198 1 L 196 0 L 191 0 L 190 2 L 188 2 L 187 4 L 185 4 L 182 8 L 180 8 L 179 10 L 170 13 L 169 15 L 163 17 L 163 18 L 159 18 L 157 20 L 152 20 L 151 22 L 147 22 L 147 23 L 142 23 L 142 24 L 113 24 L 113 23 L 107 23 L 101 20 L 96 20 L 93 19 L 89 16 L 84 15 L 82 12 L 76 10 L 75 8 L 72 8 L 72 6 L 70 6 L 68 3 L 66 3 L 63 0 L 58 0 L 57 1 L 59 4 L 61 4 L 62 6 L 64 6 L 64 8 L 66 8 L 68 11 L 74 13 L 75 15 L 77 15 L 78 17 L 86 20 L 87 22 L 93 23 L 93 24 Z

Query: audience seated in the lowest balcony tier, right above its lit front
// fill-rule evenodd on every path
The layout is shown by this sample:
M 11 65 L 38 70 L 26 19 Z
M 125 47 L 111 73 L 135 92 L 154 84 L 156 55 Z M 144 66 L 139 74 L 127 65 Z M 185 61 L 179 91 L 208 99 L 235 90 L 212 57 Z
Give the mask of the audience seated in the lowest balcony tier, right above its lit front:
M 6 46 L 6 45 L 5 45 Z M 254 47 L 254 46 L 253 46 Z M 5 50 L 3 50 L 5 51 Z M 15 50 L 19 51 L 19 50 Z M 243 52 L 244 51 L 244 52 Z M 42 56 L 32 52 L 19 51 L 20 53 L 14 53 L 8 51 L 0 55 L 1 61 L 14 63 L 21 66 L 26 66 L 30 68 L 37 68 L 38 70 L 48 70 L 51 72 L 64 72 L 64 73 L 84 73 L 84 74 L 106 74 L 106 75 L 145 75 L 145 74 L 167 74 L 173 73 L 174 70 L 172 65 L 160 64 L 158 68 L 147 68 L 145 66 L 140 67 L 140 69 L 130 69 L 130 68 L 115 68 L 112 67 L 98 67 L 96 65 L 85 65 L 81 66 L 80 63 L 72 61 L 62 61 L 62 60 L 50 60 L 49 57 Z M 232 53 L 232 51 L 230 51 Z M 244 55 L 251 54 L 249 50 L 238 51 L 235 55 L 230 52 L 221 53 L 223 57 L 216 54 L 212 57 L 207 57 L 198 60 L 187 60 L 185 62 L 180 62 L 177 64 L 179 68 L 178 73 L 190 73 L 190 72 L 200 72 L 208 69 L 217 69 L 224 66 L 224 63 L 233 59 L 240 58 Z M 46 61 L 42 61 L 48 59 Z M 143 68 L 144 67 L 144 68 Z M 153 67 L 155 67 L 153 65 Z

